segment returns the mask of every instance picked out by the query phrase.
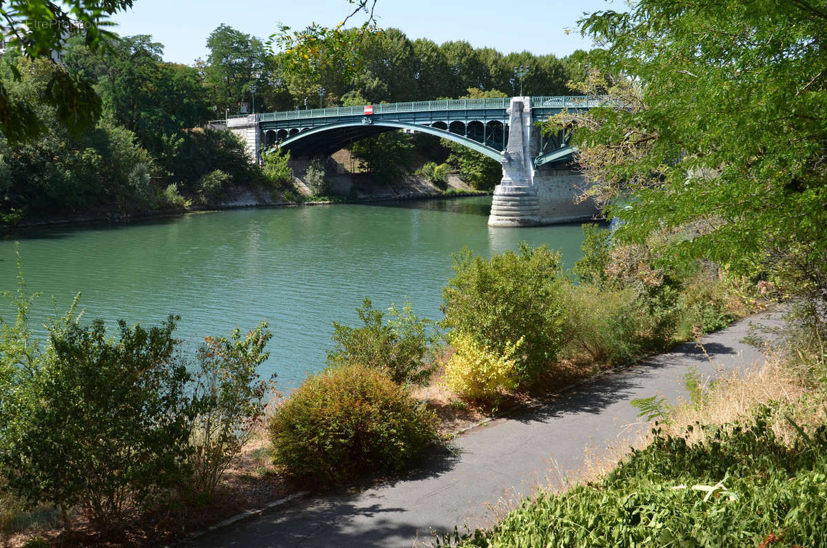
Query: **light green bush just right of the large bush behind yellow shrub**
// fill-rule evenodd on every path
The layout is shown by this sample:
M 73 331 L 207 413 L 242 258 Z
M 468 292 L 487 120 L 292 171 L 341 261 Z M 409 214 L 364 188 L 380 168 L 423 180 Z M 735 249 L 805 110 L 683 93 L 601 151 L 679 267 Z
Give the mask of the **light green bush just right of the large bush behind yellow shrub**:
M 632 290 L 569 286 L 566 347 L 571 358 L 586 354 L 596 363 L 629 363 L 641 351 L 643 311 Z

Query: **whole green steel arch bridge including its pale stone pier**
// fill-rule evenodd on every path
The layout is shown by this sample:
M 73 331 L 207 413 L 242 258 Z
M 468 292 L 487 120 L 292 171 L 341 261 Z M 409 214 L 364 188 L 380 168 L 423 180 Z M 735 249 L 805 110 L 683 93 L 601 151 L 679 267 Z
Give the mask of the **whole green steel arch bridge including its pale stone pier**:
M 273 146 L 294 157 L 332 154 L 351 142 L 399 129 L 443 137 L 502 164 L 490 226 L 527 226 L 595 213 L 589 204 L 573 204 L 571 187 L 582 187 L 584 181 L 567 166 L 573 149 L 565 132 L 544 136 L 538 123 L 563 109 L 605 103 L 603 97 L 572 95 L 382 103 L 240 115 L 227 118 L 226 128 L 246 140 L 251 156 Z

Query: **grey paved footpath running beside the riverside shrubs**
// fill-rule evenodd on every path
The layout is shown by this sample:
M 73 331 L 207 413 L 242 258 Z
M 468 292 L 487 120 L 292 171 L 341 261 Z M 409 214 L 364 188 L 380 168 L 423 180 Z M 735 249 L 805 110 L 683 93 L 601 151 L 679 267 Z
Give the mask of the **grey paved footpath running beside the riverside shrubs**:
M 676 401 L 685 396 L 683 375 L 695 366 L 701 375 L 762 363 L 740 342 L 748 323 L 774 324 L 753 317 L 711 334 L 703 344 L 714 363 L 696 347 L 609 373 L 553 398 L 542 406 L 459 437 L 451 450 L 439 449 L 417 471 L 359 493 L 328 493 L 239 522 L 197 546 L 414 546 L 431 542 L 431 531 L 489 526 L 489 510 L 500 499 L 530 495 L 537 485 L 561 484 L 575 472 L 588 449 L 624 444 L 643 430 L 629 401 L 656 394 Z

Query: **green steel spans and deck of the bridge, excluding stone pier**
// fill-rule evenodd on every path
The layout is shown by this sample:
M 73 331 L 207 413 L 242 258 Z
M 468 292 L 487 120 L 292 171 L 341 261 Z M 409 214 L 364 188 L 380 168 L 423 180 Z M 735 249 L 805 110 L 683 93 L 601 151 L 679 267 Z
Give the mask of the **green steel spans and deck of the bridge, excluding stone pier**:
M 602 97 L 577 95 L 526 99 L 530 99 L 532 124 L 546 121 L 564 108 L 583 109 L 605 103 Z M 503 98 L 381 103 L 260 113 L 254 115 L 254 120 L 246 115 L 238 118 L 256 123 L 265 147 L 278 145 L 294 156 L 332 154 L 351 142 L 382 132 L 407 129 L 444 137 L 501 161 L 509 142 L 510 101 L 510 98 Z M 232 125 L 229 120 L 227 123 Z M 539 139 L 539 153 L 533 159 L 535 166 L 571 159 L 572 150 L 562 132 Z

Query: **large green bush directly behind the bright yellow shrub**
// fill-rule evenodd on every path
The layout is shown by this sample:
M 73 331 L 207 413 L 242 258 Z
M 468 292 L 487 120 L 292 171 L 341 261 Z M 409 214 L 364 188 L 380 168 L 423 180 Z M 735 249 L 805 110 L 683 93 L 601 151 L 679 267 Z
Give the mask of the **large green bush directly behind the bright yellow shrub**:
M 455 276 L 442 289 L 443 325 L 503 355 L 523 338 L 515 356 L 519 385 L 527 386 L 554 365 L 562 344 L 567 283 L 560 255 L 546 246 L 506 251 L 486 261 L 464 249 L 454 255 Z

